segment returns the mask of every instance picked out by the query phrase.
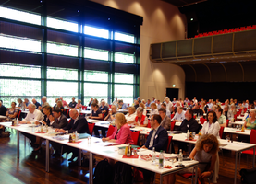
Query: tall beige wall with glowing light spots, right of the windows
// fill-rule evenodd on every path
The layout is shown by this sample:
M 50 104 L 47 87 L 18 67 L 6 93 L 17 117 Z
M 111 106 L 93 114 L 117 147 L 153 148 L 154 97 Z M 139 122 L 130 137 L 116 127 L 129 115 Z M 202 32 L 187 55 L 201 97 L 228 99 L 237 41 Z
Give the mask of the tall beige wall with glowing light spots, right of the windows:
M 152 63 L 150 45 L 185 38 L 186 17 L 176 6 L 161 0 L 91 0 L 104 6 L 143 17 L 140 29 L 140 98 L 165 98 L 165 88 L 174 84 L 179 98 L 185 95 L 185 73 L 174 64 Z

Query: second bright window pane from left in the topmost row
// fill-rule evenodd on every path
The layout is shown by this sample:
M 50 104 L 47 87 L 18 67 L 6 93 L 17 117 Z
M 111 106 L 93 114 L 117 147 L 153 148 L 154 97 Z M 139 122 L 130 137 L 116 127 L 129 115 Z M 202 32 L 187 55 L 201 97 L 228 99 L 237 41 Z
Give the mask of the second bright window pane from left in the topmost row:
M 55 29 L 64 29 L 73 32 L 78 32 L 79 25 L 77 23 L 68 22 L 52 17 L 47 17 L 47 26 Z

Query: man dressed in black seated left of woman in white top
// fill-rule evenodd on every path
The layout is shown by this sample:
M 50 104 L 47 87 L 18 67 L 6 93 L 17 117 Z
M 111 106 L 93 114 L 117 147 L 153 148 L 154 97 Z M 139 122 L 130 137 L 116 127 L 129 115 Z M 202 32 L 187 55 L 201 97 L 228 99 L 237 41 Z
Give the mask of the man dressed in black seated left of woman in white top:
M 181 122 L 180 126 L 177 127 L 177 131 L 181 132 L 199 132 L 198 122 L 193 118 L 193 110 L 187 109 L 185 113 L 185 119 Z

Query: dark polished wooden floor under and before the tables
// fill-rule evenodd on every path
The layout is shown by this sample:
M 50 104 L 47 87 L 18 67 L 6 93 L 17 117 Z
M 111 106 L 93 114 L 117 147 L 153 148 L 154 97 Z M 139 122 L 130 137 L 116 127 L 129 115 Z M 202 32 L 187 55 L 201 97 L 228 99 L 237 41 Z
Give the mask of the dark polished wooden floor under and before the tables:
M 17 158 L 17 133 L 11 132 L 10 138 L 0 138 L 0 183 L 87 183 L 88 167 L 69 166 L 66 158 L 50 159 L 50 172 L 45 172 L 45 149 L 42 153 L 31 152 L 29 141 L 24 144 L 24 137 L 20 135 L 20 157 Z M 67 155 L 70 157 L 70 155 Z M 95 155 L 97 161 L 100 156 Z M 218 183 L 234 183 L 235 153 L 224 152 L 225 166 L 220 157 L 220 171 Z M 250 167 L 252 156 L 249 157 Z M 242 155 L 241 167 L 246 168 L 247 156 Z M 238 183 L 240 177 L 238 174 Z M 159 176 L 156 176 L 156 183 L 159 183 Z M 177 183 L 190 183 L 190 180 L 177 176 Z

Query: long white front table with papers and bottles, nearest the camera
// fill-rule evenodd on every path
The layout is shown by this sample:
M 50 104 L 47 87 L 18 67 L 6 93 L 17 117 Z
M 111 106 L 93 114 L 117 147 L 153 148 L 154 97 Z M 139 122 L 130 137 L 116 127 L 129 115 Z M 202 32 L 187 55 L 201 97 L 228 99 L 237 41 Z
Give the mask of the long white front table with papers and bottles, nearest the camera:
M 2 122 L 0 123 L 1 125 L 4 125 L 6 127 L 15 129 L 17 131 L 17 157 L 19 158 L 19 132 L 27 132 L 30 133 L 31 135 L 35 135 L 38 137 L 41 137 L 43 139 L 46 140 L 46 159 L 45 159 L 45 171 L 49 172 L 50 171 L 50 165 L 49 165 L 49 159 L 50 159 L 50 153 L 49 153 L 49 142 L 53 141 L 55 143 L 59 143 L 59 144 L 66 144 L 68 146 L 74 147 L 74 148 L 78 148 L 79 149 L 79 160 L 80 160 L 80 153 L 81 150 L 85 150 L 87 152 L 90 153 L 90 158 L 89 158 L 89 183 L 93 183 L 93 154 L 95 155 L 103 155 L 112 159 L 115 159 L 116 161 L 120 161 L 123 163 L 126 163 L 128 165 L 131 165 L 133 167 L 140 167 L 149 171 L 152 171 L 154 173 L 160 174 L 160 183 L 163 183 L 163 177 L 165 175 L 169 175 L 171 173 L 175 173 L 178 171 L 181 171 L 185 168 L 188 167 L 196 167 L 196 173 L 195 173 L 195 179 L 197 180 L 197 167 L 198 167 L 198 162 L 197 161 L 186 161 L 183 162 L 183 165 L 185 165 L 185 167 L 173 167 L 171 169 L 169 168 L 163 168 L 163 169 L 159 169 L 157 166 L 152 165 L 151 162 L 146 162 L 142 159 L 132 159 L 132 158 L 128 158 L 128 159 L 124 159 L 122 158 L 122 155 L 118 155 L 117 152 L 117 147 L 120 145 L 114 145 L 114 146 L 107 146 L 109 144 L 113 144 L 113 143 L 109 143 L 109 142 L 102 142 L 101 139 L 99 138 L 95 138 L 95 137 L 91 137 L 91 142 L 89 142 L 89 139 L 84 139 L 81 140 L 81 143 L 79 144 L 72 144 L 72 143 L 68 143 L 68 140 L 57 140 L 55 139 L 55 133 L 54 132 L 49 132 L 49 133 L 36 133 L 35 132 L 35 127 L 33 127 L 30 124 L 20 124 L 19 126 L 12 126 L 11 122 Z M 166 161 L 166 165 L 171 165 L 172 163 L 169 161 Z M 79 165 L 80 165 L 80 161 L 79 161 Z

